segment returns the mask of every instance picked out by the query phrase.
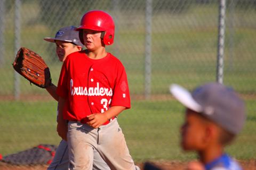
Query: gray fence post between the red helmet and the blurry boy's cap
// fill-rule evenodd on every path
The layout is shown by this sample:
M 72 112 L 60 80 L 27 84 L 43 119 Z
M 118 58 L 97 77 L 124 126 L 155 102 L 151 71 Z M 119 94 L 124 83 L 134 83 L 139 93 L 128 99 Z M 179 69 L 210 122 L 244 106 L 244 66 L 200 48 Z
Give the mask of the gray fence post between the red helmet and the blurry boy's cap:
M 146 0 L 146 38 L 145 38 L 145 98 L 151 93 L 151 26 L 152 0 Z

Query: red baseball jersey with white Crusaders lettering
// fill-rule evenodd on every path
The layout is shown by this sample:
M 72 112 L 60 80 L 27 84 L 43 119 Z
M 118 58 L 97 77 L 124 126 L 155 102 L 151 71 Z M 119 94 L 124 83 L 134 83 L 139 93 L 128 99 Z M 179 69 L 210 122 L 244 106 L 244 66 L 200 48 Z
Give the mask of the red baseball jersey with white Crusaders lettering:
M 99 60 L 85 51 L 71 53 L 63 63 L 57 94 L 67 98 L 63 118 L 82 120 L 111 106 L 131 107 L 129 86 L 121 61 L 108 53 Z

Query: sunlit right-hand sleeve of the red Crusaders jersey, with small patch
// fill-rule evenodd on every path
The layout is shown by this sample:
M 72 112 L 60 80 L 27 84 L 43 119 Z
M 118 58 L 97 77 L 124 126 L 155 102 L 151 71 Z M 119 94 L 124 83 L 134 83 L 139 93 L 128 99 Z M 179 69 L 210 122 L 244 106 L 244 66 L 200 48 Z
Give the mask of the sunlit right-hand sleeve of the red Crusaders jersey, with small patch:
M 127 75 L 122 63 L 119 63 L 116 71 L 117 77 L 111 106 L 123 106 L 126 109 L 131 108 L 130 92 L 127 81 Z

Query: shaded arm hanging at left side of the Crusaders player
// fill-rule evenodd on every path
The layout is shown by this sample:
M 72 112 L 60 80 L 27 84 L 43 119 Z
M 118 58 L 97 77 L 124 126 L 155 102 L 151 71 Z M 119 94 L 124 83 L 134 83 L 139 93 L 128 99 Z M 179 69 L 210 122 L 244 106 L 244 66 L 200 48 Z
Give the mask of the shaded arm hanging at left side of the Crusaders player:
M 59 114 L 57 118 L 57 132 L 59 136 L 67 141 L 67 132 L 68 132 L 68 125 L 67 120 L 63 119 L 63 108 L 65 106 L 67 99 L 59 97 Z

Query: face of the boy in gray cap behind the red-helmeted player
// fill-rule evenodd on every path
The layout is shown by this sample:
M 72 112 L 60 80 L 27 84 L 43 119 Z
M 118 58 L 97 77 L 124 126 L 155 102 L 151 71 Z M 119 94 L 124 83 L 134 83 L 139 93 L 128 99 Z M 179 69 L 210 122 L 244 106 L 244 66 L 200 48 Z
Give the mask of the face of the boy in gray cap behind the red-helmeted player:
M 76 45 L 69 42 L 57 40 L 55 41 L 55 44 L 56 44 L 56 53 L 60 61 L 65 61 L 66 57 L 69 54 L 79 51 L 79 48 Z

